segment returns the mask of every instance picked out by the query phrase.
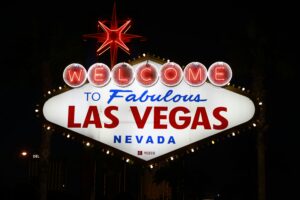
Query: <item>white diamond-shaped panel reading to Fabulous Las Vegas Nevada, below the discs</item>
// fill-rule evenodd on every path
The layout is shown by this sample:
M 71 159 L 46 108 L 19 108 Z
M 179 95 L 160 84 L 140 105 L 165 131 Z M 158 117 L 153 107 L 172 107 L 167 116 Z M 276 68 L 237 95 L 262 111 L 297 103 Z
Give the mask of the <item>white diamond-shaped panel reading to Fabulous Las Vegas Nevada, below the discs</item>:
M 248 97 L 185 81 L 174 87 L 160 81 L 151 87 L 88 83 L 43 107 L 48 121 L 145 161 L 243 124 L 254 113 Z

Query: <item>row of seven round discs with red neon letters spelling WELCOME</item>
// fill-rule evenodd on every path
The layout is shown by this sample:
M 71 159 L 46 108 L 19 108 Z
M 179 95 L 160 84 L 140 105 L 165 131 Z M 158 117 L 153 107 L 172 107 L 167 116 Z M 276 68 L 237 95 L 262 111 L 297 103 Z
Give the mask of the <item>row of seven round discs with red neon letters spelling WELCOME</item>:
M 63 79 L 70 87 L 80 87 L 87 79 L 95 87 L 103 87 L 110 80 L 120 87 L 126 87 L 134 80 L 144 87 L 153 86 L 158 80 L 173 87 L 182 79 L 191 86 L 200 86 L 207 79 L 215 86 L 224 86 L 231 78 L 231 68 L 225 62 L 215 62 L 208 70 L 199 62 L 189 63 L 184 70 L 174 62 L 165 63 L 160 70 L 150 63 L 142 63 L 135 70 L 128 63 L 119 63 L 112 70 L 103 63 L 95 63 L 88 71 L 82 65 L 73 63 L 63 72 Z

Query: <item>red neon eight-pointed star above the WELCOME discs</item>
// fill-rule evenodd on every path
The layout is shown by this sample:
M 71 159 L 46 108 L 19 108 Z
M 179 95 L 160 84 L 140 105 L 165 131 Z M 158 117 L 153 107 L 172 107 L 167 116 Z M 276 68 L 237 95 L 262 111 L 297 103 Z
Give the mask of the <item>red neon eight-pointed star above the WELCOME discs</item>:
M 100 56 L 106 50 L 110 49 L 110 63 L 113 67 L 117 63 L 118 47 L 123 51 L 130 54 L 129 48 L 125 43 L 130 42 L 133 38 L 140 38 L 139 35 L 126 34 L 131 26 L 131 20 L 127 20 L 122 26 L 118 28 L 118 20 L 116 15 L 116 3 L 114 3 L 112 20 L 110 28 L 108 28 L 104 21 L 98 21 L 99 27 L 101 27 L 104 32 L 95 34 L 83 35 L 84 38 L 94 38 L 102 45 L 97 49 L 97 55 Z

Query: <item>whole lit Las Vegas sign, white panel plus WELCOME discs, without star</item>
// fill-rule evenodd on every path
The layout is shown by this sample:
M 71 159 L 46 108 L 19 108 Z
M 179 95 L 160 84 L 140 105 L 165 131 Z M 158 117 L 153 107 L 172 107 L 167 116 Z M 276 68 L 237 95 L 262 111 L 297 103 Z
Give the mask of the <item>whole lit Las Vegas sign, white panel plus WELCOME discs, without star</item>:
M 220 87 L 231 76 L 223 62 L 208 70 L 198 62 L 184 70 L 151 60 L 119 63 L 111 71 L 101 63 L 88 71 L 71 64 L 63 78 L 74 89 L 47 100 L 43 113 L 54 124 L 149 161 L 254 116 L 248 97 Z

